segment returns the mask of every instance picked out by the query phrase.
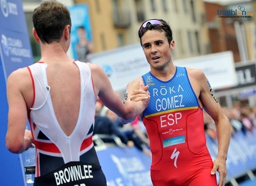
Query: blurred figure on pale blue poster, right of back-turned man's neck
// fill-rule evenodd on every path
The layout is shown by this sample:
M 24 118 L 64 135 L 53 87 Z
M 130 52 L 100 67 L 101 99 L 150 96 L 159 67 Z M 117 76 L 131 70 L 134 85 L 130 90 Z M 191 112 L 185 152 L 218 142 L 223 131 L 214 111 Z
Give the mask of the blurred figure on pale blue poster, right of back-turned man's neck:
M 77 28 L 79 42 L 76 44 L 76 54 L 81 62 L 89 62 L 87 55 L 93 52 L 93 44 L 88 40 L 87 31 L 83 26 Z

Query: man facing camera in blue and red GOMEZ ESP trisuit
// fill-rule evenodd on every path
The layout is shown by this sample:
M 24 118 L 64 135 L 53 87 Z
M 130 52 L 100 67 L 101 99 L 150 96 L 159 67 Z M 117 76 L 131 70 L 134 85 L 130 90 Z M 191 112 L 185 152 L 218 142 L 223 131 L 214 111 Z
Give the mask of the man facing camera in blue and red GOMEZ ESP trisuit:
M 139 83 L 149 86 L 150 103 L 141 117 L 152 152 L 151 180 L 154 186 L 225 185 L 230 124 L 201 70 L 172 63 L 170 26 L 151 19 L 139 29 L 139 38 L 150 71 L 130 82 L 125 98 L 140 100 Z M 206 146 L 203 109 L 216 122 L 218 155 L 212 162 Z

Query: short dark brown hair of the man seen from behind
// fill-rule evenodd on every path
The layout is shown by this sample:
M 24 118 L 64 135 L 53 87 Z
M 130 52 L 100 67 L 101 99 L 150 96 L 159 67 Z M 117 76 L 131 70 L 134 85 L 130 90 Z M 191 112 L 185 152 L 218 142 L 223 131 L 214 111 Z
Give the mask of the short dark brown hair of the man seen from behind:
M 67 25 L 71 26 L 68 8 L 55 0 L 45 1 L 36 7 L 32 18 L 36 33 L 43 43 L 59 41 L 64 28 Z M 71 28 L 69 32 L 71 32 Z

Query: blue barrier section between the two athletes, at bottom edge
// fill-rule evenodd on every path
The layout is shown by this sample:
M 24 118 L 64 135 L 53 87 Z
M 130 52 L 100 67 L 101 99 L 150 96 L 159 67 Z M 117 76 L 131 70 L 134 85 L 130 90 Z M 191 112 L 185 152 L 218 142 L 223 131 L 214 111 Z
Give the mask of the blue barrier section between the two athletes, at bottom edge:
M 97 151 L 108 186 L 151 186 L 151 158 L 136 147 L 108 147 Z

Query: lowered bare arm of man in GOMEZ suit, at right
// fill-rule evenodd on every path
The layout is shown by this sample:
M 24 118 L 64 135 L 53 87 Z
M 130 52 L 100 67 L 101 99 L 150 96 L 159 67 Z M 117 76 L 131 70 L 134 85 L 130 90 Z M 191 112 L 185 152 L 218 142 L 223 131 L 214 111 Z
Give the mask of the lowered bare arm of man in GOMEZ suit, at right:
M 197 74 L 197 82 L 200 87 L 199 100 L 203 104 L 205 111 L 212 117 L 216 124 L 217 140 L 218 140 L 218 154 L 217 158 L 213 162 L 213 169 L 211 174 L 215 174 L 216 171 L 220 174 L 220 183 L 218 185 L 225 185 L 226 180 L 226 158 L 228 154 L 228 147 L 230 142 L 230 123 L 228 117 L 224 112 L 217 99 L 213 95 L 210 82 L 203 71 Z

